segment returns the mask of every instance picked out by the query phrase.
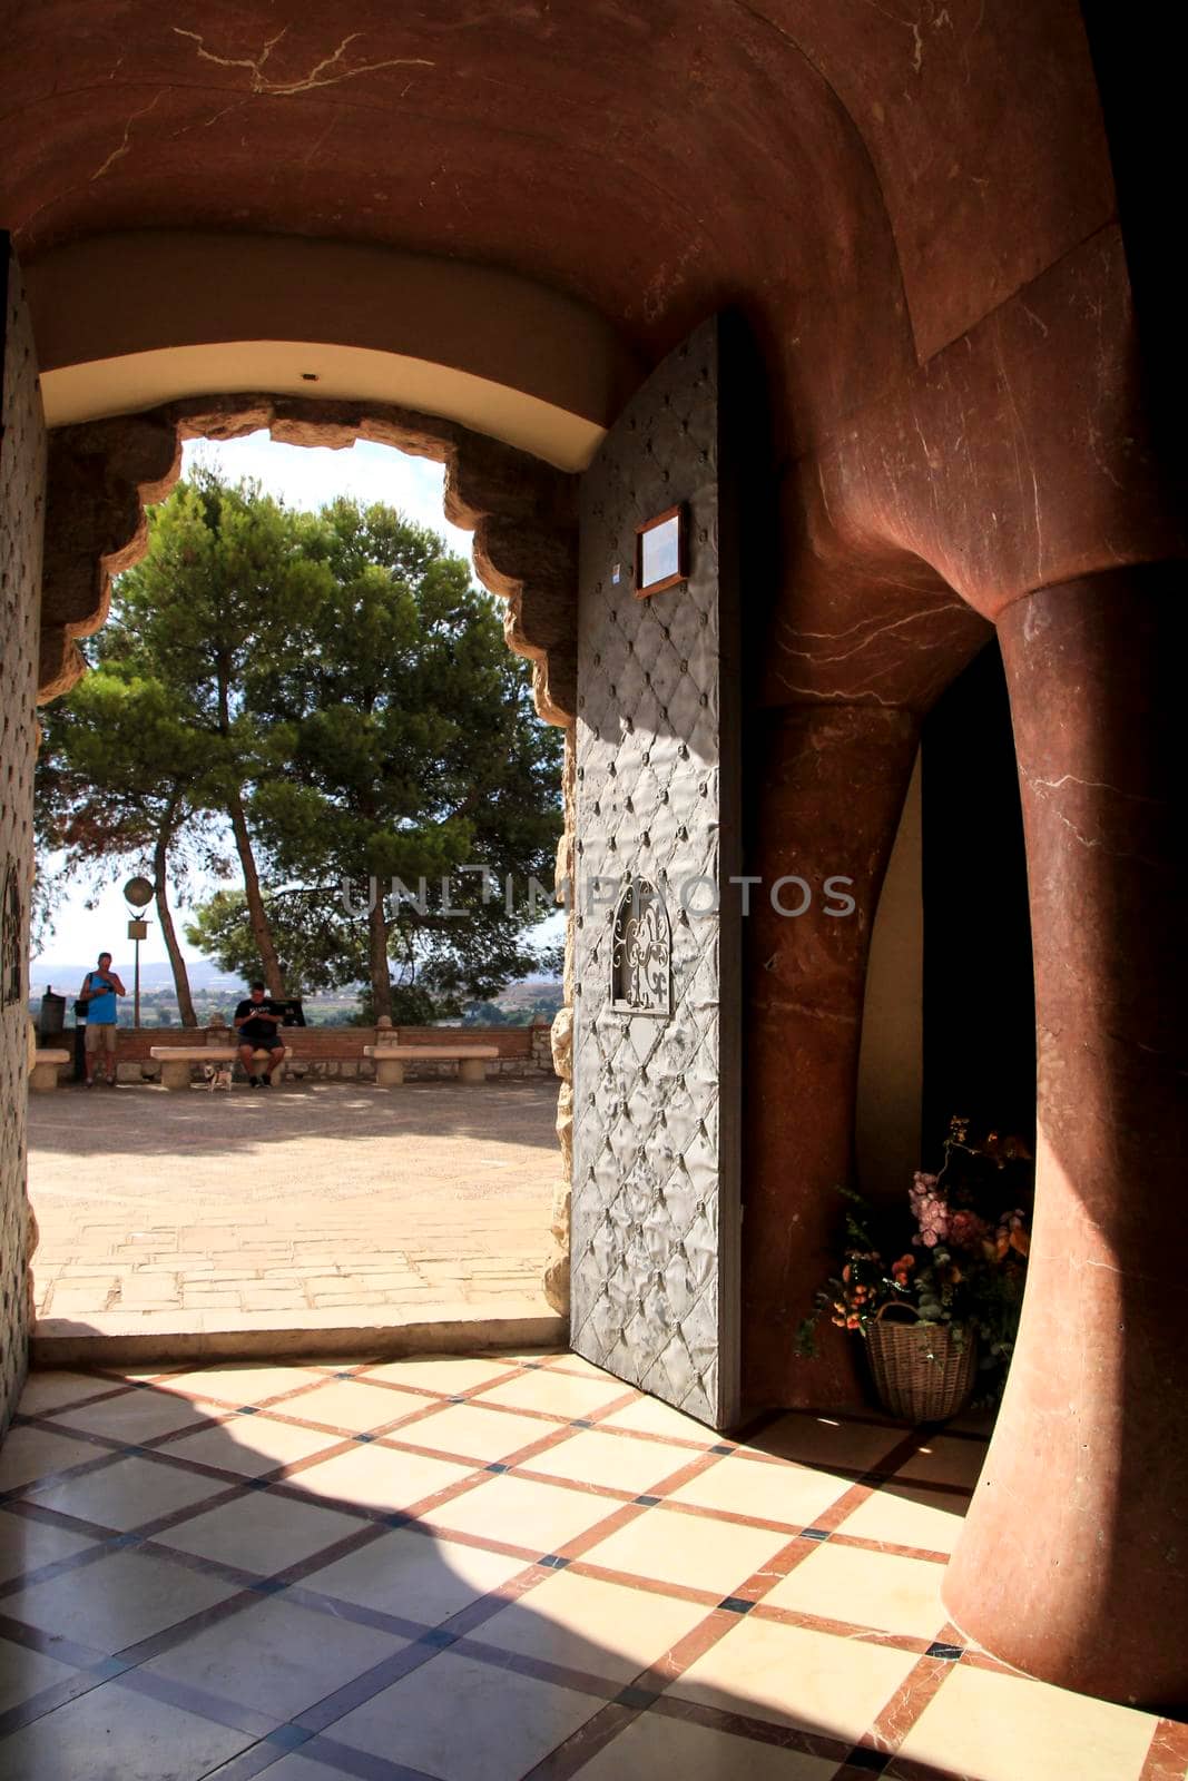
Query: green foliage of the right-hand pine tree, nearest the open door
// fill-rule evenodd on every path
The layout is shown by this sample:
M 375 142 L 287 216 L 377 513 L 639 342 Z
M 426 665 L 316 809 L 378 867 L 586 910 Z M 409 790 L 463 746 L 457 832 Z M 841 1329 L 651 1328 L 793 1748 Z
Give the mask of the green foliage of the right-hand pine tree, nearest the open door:
M 533 712 L 495 602 L 431 533 L 337 500 L 315 549 L 331 591 L 249 677 L 287 750 L 255 787 L 253 826 L 283 876 L 324 885 L 328 917 L 344 885 L 360 903 L 370 880 L 379 896 L 408 887 L 385 910 L 395 988 L 417 985 L 440 1019 L 536 964 L 529 878 L 552 871 L 561 739 Z M 511 874 L 511 908 L 470 864 Z

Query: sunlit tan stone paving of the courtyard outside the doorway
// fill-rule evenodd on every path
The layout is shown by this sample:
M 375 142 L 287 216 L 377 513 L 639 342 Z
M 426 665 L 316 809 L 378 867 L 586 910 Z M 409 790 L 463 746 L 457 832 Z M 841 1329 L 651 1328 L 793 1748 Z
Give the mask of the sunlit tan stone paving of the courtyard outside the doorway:
M 39 1320 L 538 1300 L 556 1083 L 30 1097 Z

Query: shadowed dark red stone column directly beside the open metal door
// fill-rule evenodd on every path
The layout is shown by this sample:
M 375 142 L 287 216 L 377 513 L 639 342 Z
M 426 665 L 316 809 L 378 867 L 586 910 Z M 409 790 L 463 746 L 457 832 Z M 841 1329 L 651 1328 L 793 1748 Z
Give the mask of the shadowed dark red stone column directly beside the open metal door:
M 855 1343 L 828 1323 L 816 1361 L 796 1327 L 835 1268 L 851 1175 L 858 1044 L 871 928 L 903 810 L 919 720 L 882 705 L 789 705 L 757 725 L 755 809 L 743 923 L 743 1396 L 748 1405 L 862 1402 Z M 780 915 L 771 889 L 801 878 L 812 903 Z M 828 915 L 825 882 L 851 878 L 851 915 Z M 796 883 L 785 908 L 803 901 Z

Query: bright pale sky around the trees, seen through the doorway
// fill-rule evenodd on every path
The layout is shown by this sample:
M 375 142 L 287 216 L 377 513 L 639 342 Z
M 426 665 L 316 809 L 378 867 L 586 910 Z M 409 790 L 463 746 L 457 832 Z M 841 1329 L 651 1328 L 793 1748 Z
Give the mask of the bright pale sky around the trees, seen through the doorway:
M 330 451 L 324 445 L 278 445 L 267 433 L 251 433 L 242 440 L 192 440 L 183 449 L 182 467 L 194 461 L 210 463 L 230 477 L 255 477 L 267 493 L 290 508 L 313 511 L 337 495 L 358 495 L 360 500 L 385 500 L 399 508 L 410 520 L 440 533 L 449 549 L 470 557 L 470 533 L 445 522 L 442 492 L 445 470 L 427 458 L 406 458 L 390 445 L 372 445 L 356 440 L 349 451 Z M 62 903 L 53 935 L 32 960 L 34 981 L 45 980 L 53 965 L 77 965 L 93 960 L 102 947 L 116 953 L 119 962 L 130 953 L 126 942 L 128 908 L 121 887 L 130 873 L 119 871 L 109 887 L 100 887 L 94 908 L 87 908 L 89 892 L 78 887 Z M 196 882 L 191 898 L 201 901 L 216 883 Z M 148 940 L 141 944 L 142 964 L 164 964 L 166 947 L 160 924 L 150 917 Z M 185 921 L 185 905 L 175 907 L 178 935 Z M 552 939 L 552 935 L 550 935 Z M 187 958 L 201 955 L 183 942 Z M 55 985 L 59 987 L 59 985 Z

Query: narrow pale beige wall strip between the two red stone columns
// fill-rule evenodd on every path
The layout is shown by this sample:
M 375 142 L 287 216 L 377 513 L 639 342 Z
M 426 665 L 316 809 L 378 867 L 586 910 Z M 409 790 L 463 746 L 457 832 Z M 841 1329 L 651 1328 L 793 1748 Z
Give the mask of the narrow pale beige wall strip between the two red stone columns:
M 862 1004 L 855 1149 L 873 1200 L 907 1193 L 921 1167 L 924 1070 L 924 903 L 921 760 L 912 780 L 871 930 Z

